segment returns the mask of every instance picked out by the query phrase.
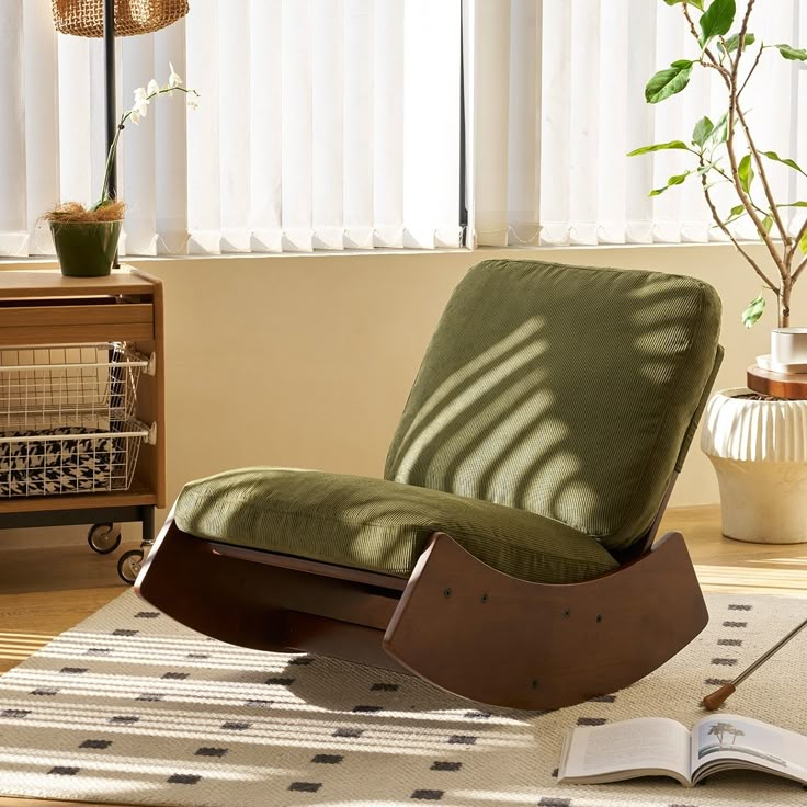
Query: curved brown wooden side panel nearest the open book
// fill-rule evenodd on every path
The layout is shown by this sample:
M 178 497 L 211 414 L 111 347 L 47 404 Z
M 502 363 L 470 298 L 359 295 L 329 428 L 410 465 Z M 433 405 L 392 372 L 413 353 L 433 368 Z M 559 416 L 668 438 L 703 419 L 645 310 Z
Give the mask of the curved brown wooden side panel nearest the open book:
M 435 533 L 384 636 L 404 667 L 487 704 L 546 709 L 634 683 L 708 613 L 683 537 L 582 583 L 519 580 Z

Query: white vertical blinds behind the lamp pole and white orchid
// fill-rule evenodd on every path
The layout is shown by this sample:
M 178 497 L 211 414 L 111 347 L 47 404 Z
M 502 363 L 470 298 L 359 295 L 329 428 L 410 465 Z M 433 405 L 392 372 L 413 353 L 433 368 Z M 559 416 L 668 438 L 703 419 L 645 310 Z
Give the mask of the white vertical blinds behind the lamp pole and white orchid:
M 126 106 L 169 60 L 201 95 L 127 126 L 122 252 L 458 247 L 459 26 L 459 0 L 193 0 L 118 39 Z M 2 0 L 0 62 L 0 254 L 47 254 L 38 216 L 100 192 L 103 46 Z

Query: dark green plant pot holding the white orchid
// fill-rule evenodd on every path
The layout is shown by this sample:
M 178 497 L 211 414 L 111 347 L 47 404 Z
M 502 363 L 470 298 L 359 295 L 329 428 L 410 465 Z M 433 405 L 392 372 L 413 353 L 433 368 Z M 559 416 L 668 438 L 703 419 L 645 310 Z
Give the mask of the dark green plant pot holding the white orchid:
M 101 277 L 110 274 L 123 221 L 50 221 L 61 274 Z

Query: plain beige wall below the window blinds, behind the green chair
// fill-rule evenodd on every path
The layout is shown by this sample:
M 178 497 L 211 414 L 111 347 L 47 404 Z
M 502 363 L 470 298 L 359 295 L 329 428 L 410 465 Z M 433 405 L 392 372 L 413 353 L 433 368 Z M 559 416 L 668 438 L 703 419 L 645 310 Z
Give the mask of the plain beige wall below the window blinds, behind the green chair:
M 452 288 L 476 261 L 502 255 L 708 281 L 724 300 L 718 388 L 742 385 L 746 366 L 768 352 L 773 316 L 742 328 L 740 311 L 759 283 L 730 247 L 132 260 L 166 285 L 169 497 L 187 479 L 243 465 L 379 475 Z M 804 295 L 797 295 L 798 314 Z M 672 504 L 717 500 L 712 468 L 695 444 Z M 5 545 L 18 539 L 34 537 L 9 534 Z

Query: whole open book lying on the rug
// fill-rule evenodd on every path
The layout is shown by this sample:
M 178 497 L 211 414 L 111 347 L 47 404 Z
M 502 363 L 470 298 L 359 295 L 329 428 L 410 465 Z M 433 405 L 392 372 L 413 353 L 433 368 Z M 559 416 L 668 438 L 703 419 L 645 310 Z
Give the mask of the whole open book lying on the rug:
M 739 769 L 807 784 L 807 737 L 724 714 L 704 717 L 692 731 L 666 717 L 578 727 L 564 743 L 558 782 L 671 776 L 692 787 L 716 771 Z

